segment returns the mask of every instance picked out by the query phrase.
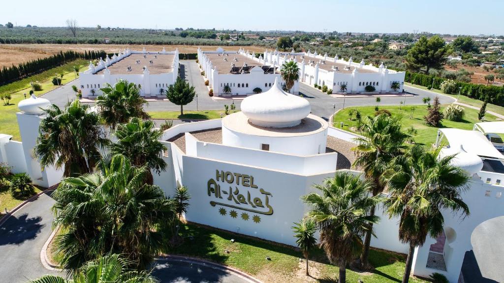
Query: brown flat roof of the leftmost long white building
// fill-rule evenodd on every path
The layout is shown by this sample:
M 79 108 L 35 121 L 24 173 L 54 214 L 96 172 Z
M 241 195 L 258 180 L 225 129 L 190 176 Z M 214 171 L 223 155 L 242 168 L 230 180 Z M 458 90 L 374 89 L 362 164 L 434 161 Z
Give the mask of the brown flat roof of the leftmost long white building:
M 144 58 L 144 55 L 146 55 L 147 58 Z M 157 58 L 154 56 L 157 56 Z M 110 70 L 110 74 L 113 75 L 141 75 L 144 73 L 143 67 L 146 66 L 149 73 L 152 75 L 166 74 L 173 72 L 171 66 L 174 58 L 174 54 L 131 54 L 111 64 L 108 66 L 108 69 Z M 137 64 L 137 60 L 140 60 L 139 64 Z M 152 60 L 152 64 L 149 62 L 150 60 Z M 128 66 L 132 67 L 131 71 L 128 70 Z M 104 70 L 105 69 L 102 69 L 96 74 L 103 74 Z

